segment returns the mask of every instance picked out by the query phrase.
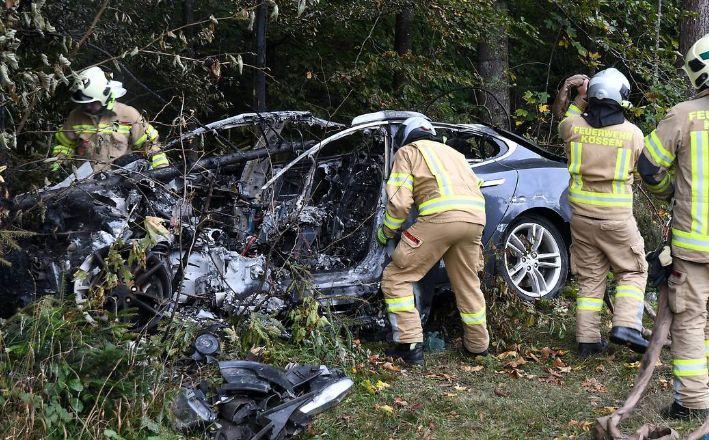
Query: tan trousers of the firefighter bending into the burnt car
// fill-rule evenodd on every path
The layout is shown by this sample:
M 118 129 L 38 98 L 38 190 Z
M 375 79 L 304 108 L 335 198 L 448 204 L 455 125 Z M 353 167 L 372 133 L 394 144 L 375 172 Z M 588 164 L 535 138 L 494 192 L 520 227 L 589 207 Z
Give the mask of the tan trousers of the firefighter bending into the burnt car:
M 463 344 L 473 353 L 487 350 L 490 337 L 478 278 L 482 232 L 483 226 L 476 223 L 434 223 L 421 218 L 404 231 L 381 283 L 395 342 L 423 342 L 412 283 L 443 258 L 463 320 Z

